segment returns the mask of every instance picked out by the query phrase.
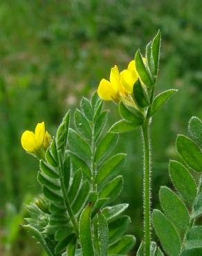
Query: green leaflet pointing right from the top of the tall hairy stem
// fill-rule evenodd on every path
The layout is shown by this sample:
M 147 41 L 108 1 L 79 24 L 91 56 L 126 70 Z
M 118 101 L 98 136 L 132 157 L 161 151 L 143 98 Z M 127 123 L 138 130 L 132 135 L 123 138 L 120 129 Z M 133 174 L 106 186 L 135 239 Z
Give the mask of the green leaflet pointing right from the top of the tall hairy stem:
M 163 104 L 166 102 L 166 100 L 174 93 L 176 93 L 178 90 L 176 89 L 169 89 L 167 91 L 163 91 L 163 93 L 160 93 L 156 96 L 156 98 L 154 99 L 154 102 L 152 104 L 152 110 L 150 113 L 150 116 L 153 116 L 154 113 L 156 111 L 158 111 L 158 109 L 160 109 L 160 107 L 163 106 Z

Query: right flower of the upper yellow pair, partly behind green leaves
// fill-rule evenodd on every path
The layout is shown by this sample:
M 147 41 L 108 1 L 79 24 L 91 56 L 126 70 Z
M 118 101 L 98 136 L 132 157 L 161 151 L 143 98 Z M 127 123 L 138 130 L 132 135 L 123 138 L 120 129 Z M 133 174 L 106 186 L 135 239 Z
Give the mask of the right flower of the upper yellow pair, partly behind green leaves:
M 146 62 L 146 58 L 143 58 L 143 61 Z M 138 71 L 136 71 L 136 62 L 131 60 L 127 69 L 123 70 L 120 73 L 120 80 L 122 86 L 124 86 L 125 91 L 131 94 L 133 92 L 134 83 L 138 80 Z

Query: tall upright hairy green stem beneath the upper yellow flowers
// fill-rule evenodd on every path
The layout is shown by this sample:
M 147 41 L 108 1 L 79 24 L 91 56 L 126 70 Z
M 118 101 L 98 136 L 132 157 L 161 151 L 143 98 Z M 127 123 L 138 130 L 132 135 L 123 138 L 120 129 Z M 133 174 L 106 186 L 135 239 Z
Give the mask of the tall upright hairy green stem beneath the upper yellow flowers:
M 144 219 L 145 219 L 145 256 L 150 255 L 150 145 L 149 145 L 149 120 L 146 120 L 142 126 L 143 129 L 143 142 L 144 142 Z

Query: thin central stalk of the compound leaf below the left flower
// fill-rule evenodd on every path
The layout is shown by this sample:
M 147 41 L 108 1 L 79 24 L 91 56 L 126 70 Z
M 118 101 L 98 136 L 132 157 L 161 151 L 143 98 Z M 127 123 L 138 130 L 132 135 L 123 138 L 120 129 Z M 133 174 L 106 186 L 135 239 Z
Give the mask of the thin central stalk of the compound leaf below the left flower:
M 67 197 L 67 193 L 66 193 L 66 188 L 65 188 L 65 185 L 64 185 L 64 179 L 63 179 L 63 174 L 62 174 L 62 167 L 61 167 L 61 164 L 59 166 L 59 179 L 60 179 L 60 183 L 61 183 L 61 188 L 62 188 L 62 194 L 63 194 L 63 198 L 64 198 L 64 203 L 66 205 L 66 210 L 68 212 L 68 215 L 71 219 L 71 222 L 73 223 L 73 226 L 75 228 L 75 232 L 78 234 L 79 233 L 79 228 L 78 228 L 78 224 L 77 224 L 77 221 L 75 219 L 75 216 L 73 214 L 73 211 L 71 209 L 71 205 L 68 201 L 68 197 Z

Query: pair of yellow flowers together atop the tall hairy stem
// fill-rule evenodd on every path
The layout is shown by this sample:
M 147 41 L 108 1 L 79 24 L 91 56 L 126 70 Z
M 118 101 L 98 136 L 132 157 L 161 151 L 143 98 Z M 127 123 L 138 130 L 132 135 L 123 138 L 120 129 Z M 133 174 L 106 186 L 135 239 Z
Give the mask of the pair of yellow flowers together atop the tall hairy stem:
M 119 72 L 118 66 L 114 66 L 111 68 L 110 80 L 102 79 L 100 81 L 98 95 L 102 100 L 126 101 L 132 94 L 134 83 L 138 77 L 134 60 L 129 62 L 127 69 L 121 72 Z

